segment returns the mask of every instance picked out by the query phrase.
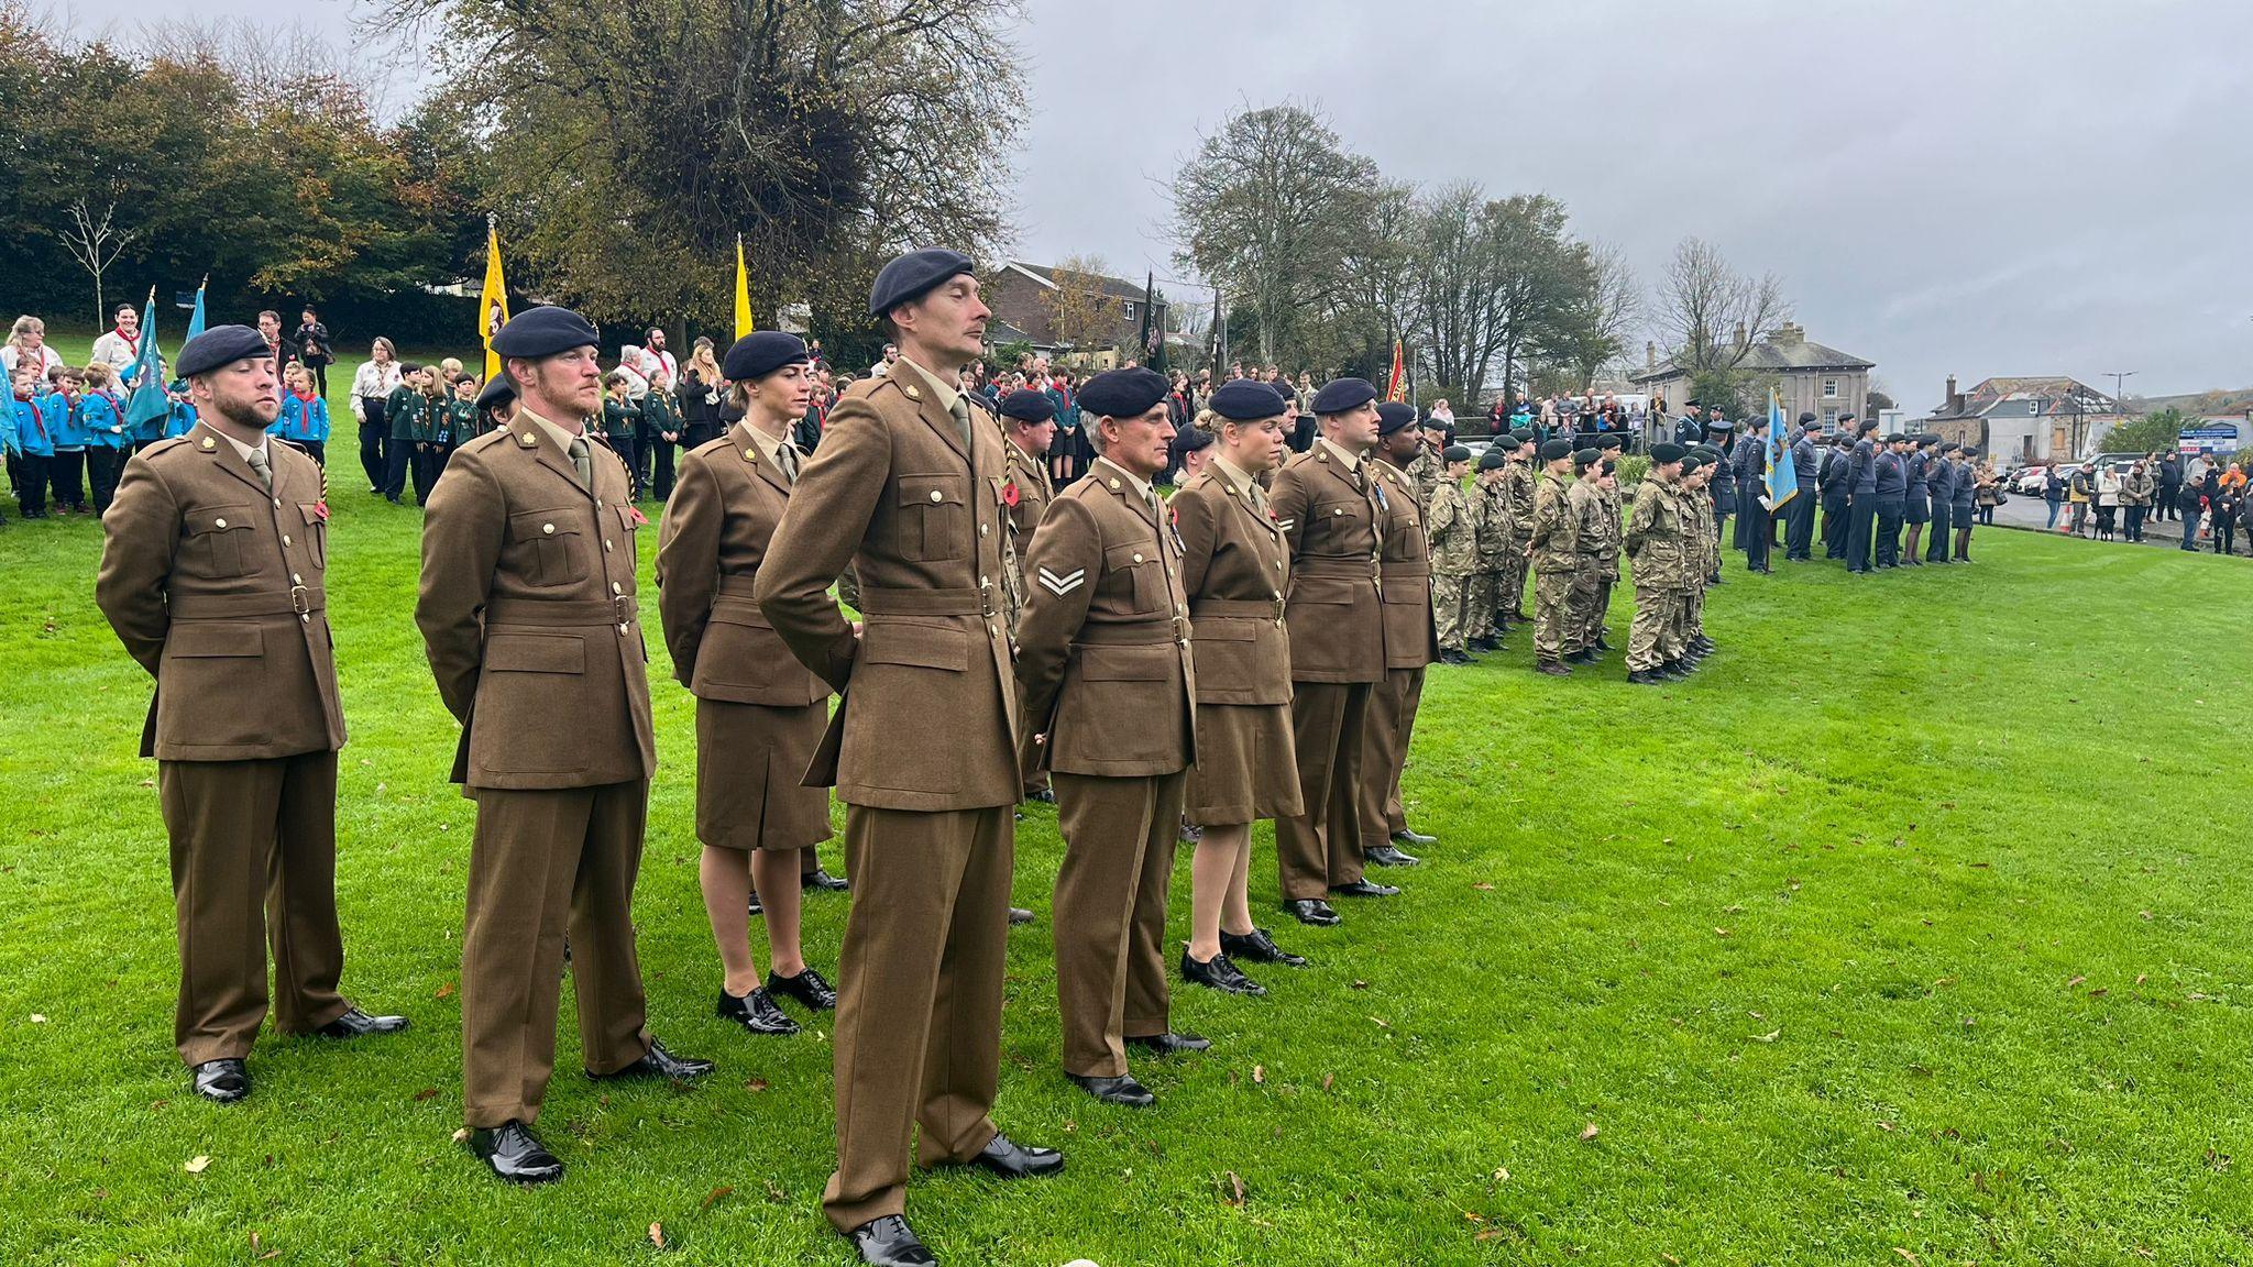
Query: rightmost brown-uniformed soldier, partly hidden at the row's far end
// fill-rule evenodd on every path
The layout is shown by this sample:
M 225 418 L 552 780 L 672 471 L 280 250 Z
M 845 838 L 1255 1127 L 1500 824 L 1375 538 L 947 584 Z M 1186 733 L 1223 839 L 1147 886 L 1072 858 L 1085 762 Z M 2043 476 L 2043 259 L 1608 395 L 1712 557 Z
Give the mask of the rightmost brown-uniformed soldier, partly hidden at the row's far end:
M 1431 539 L 1424 534 L 1424 491 L 1406 467 L 1424 451 L 1415 408 L 1399 401 L 1377 406 L 1377 453 L 1372 482 L 1383 489 L 1383 559 L 1379 604 L 1386 613 L 1386 681 L 1370 694 L 1370 724 L 1361 748 L 1361 859 L 1370 866 L 1415 866 L 1401 845 L 1431 845 L 1433 836 L 1408 827 L 1401 805 L 1401 771 L 1408 769 L 1408 737 L 1424 703 L 1424 670 L 1440 661 L 1440 633 L 1431 606 Z

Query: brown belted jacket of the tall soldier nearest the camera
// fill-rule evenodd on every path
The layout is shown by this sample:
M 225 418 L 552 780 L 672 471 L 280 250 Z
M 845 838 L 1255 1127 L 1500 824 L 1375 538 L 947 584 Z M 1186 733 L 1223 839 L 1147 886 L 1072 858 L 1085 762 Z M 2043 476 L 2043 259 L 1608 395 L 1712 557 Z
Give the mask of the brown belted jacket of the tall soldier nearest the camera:
M 910 370 L 845 388 L 766 548 L 759 609 L 838 690 L 807 787 L 876 809 L 1016 805 L 1003 444 Z M 829 597 L 852 564 L 865 633 Z

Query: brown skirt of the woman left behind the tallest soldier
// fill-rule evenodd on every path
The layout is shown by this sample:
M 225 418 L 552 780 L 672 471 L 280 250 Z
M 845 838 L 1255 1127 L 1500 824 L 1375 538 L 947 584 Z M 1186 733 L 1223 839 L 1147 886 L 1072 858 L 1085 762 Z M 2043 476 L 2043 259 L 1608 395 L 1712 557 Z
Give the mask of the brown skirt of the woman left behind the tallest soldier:
M 829 839 L 829 789 L 798 787 L 829 728 L 802 708 L 696 701 L 696 839 L 721 850 L 798 850 Z

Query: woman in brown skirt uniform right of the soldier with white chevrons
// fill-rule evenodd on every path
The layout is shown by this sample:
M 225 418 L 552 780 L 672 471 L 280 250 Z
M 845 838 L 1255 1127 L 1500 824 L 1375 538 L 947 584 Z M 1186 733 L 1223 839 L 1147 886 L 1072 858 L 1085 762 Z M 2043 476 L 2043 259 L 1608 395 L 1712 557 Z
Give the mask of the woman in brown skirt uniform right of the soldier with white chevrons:
M 1196 652 L 1196 767 L 1183 816 L 1201 825 L 1181 976 L 1228 994 L 1266 994 L 1235 960 L 1304 967 L 1253 927 L 1246 875 L 1253 821 L 1300 814 L 1291 746 L 1291 643 L 1282 595 L 1291 546 L 1262 482 L 1284 460 L 1284 397 L 1237 379 L 1196 426 L 1217 444 L 1174 494 L 1181 586 Z

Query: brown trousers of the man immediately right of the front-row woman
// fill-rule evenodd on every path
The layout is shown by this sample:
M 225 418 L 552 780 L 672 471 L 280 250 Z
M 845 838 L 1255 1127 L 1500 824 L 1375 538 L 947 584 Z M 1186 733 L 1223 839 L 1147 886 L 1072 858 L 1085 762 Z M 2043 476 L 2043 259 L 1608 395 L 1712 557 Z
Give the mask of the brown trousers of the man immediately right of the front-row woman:
M 1275 818 L 1284 900 L 1329 897 L 1361 879 L 1361 755 L 1370 694 L 1381 683 L 1291 683 L 1291 746 L 1304 814 Z

